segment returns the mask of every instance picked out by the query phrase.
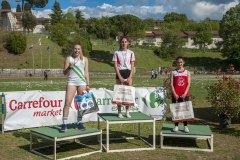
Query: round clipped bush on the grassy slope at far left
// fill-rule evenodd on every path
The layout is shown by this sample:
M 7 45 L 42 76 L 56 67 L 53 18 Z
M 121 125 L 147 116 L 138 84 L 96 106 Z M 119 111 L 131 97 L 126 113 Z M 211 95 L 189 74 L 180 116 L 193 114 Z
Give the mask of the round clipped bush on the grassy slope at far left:
M 13 32 L 7 38 L 6 48 L 10 53 L 22 54 L 27 48 L 27 38 L 23 33 Z

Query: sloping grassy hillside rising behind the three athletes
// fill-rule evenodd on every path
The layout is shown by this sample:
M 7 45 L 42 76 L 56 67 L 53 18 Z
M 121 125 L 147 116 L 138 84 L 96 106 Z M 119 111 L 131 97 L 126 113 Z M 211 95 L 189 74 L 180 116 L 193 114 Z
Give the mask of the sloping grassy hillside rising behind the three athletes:
M 39 45 L 40 38 L 41 46 Z M 111 44 L 96 39 L 92 39 L 91 41 L 93 50 L 89 56 L 89 71 L 114 72 L 112 56 L 114 51 L 119 48 L 119 45 L 116 41 L 112 41 Z M 31 45 L 33 45 L 33 48 L 29 49 Z M 50 47 L 49 50 L 47 50 L 48 46 Z M 151 49 L 136 46 L 131 46 L 130 49 L 135 52 L 136 71 L 138 73 L 151 71 L 151 69 L 157 69 L 158 67 L 175 65 L 172 60 L 163 60 L 154 55 Z M 237 62 L 229 62 L 220 53 L 212 51 L 202 52 L 184 49 L 181 55 L 185 57 L 186 66 L 191 71 L 215 71 L 220 66 L 222 69 L 226 69 L 229 63 L 234 63 L 235 66 L 238 64 Z M 41 34 L 30 34 L 27 36 L 27 49 L 23 54 L 14 55 L 7 53 L 6 50 L 0 51 L 0 69 L 33 68 L 33 63 L 35 68 L 62 68 L 63 62 L 64 57 L 61 55 L 61 48 L 48 39 L 46 35 Z

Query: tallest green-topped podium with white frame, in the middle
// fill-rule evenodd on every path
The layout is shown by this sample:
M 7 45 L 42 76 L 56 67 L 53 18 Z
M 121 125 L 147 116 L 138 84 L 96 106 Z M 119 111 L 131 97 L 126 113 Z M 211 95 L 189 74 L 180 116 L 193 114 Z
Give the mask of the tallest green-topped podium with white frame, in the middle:
M 131 118 L 118 118 L 117 113 L 98 113 L 98 129 L 100 129 L 100 120 L 102 120 L 106 124 L 106 144 L 102 143 L 103 149 L 106 152 L 124 152 L 124 151 L 140 151 L 140 150 L 153 150 L 155 149 L 155 119 L 143 114 L 141 112 L 130 112 Z M 137 136 L 136 137 L 126 137 L 126 138 L 110 138 L 110 125 L 113 124 L 130 124 L 136 123 L 137 124 Z M 142 123 L 152 123 L 152 135 L 153 135 L 153 142 L 150 144 L 145 139 L 141 137 L 141 127 L 140 124 Z M 149 147 L 144 148 L 128 148 L 128 149 L 110 149 L 110 140 L 120 140 L 120 139 L 140 139 Z

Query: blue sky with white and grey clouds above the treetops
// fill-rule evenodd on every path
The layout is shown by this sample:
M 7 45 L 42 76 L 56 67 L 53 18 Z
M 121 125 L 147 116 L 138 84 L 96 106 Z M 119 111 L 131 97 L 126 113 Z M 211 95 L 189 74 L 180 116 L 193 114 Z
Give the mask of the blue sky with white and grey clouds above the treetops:
M 2 0 L 1 0 L 2 1 Z M 16 0 L 8 0 L 16 11 Z M 34 9 L 38 18 L 49 17 L 55 0 L 49 0 L 43 9 Z M 111 17 L 119 14 L 133 14 L 141 19 L 163 19 L 166 13 L 186 14 L 189 19 L 222 19 L 229 8 L 240 0 L 57 0 L 64 13 L 80 9 L 85 18 Z

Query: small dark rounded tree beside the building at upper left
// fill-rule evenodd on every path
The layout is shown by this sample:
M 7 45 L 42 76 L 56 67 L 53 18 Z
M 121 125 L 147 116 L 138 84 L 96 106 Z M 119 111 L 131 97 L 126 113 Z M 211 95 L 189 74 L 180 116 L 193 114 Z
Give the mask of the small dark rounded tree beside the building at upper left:
M 24 12 L 22 17 L 22 26 L 24 30 L 27 30 L 28 32 L 30 32 L 30 30 L 33 31 L 36 24 L 36 17 L 31 12 Z

